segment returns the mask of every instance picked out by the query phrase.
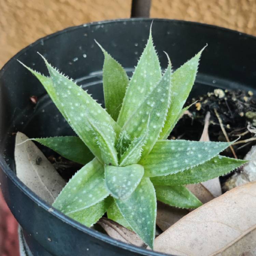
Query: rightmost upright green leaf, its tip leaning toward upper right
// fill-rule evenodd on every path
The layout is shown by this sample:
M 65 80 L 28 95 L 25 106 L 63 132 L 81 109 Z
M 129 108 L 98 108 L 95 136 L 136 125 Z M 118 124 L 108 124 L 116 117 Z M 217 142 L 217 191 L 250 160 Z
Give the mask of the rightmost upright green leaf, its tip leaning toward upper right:
M 199 59 L 205 47 L 173 73 L 171 104 L 159 139 L 167 139 L 175 125 L 174 123 L 179 120 L 177 117 L 195 82 Z

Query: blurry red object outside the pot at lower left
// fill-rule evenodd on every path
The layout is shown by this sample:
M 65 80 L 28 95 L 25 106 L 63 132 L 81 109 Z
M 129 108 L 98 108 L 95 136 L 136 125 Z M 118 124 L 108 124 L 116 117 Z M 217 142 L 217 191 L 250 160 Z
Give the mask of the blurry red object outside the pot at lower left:
M 18 223 L 0 190 L 0 256 L 18 256 Z

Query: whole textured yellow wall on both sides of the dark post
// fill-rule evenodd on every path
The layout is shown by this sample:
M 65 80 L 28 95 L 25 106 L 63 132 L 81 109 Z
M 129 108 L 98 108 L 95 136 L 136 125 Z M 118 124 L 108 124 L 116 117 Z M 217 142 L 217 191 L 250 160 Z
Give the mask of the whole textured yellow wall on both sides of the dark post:
M 0 0 L 0 67 L 40 37 L 82 23 L 128 18 L 131 0 Z M 152 0 L 151 17 L 256 35 L 256 0 Z

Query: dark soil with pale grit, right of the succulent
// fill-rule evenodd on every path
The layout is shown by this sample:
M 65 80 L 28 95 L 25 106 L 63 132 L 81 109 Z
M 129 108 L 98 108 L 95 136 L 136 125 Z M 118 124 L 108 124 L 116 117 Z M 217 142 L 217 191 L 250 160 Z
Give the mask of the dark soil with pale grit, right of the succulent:
M 198 100 L 198 101 L 197 101 Z M 256 133 L 256 100 L 252 91 L 231 91 L 215 89 L 206 95 L 188 100 L 185 105 L 194 103 L 182 116 L 171 132 L 169 139 L 199 140 L 204 127 L 204 118 L 207 112 L 211 114 L 209 137 L 211 141 L 227 141 L 221 129 L 214 109 L 222 120 L 224 129 L 230 141 L 244 141 L 233 145 L 237 158 L 243 159 L 253 145 Z M 252 139 L 251 141 L 247 141 Z M 230 148 L 221 155 L 234 157 Z M 239 171 L 236 170 L 236 171 Z M 224 182 L 228 176 L 221 178 Z

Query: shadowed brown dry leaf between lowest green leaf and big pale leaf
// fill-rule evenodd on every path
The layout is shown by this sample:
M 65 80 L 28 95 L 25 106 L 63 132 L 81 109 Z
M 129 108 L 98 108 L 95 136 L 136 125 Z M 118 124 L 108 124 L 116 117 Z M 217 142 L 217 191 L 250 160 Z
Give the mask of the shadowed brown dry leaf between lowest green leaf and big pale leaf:
M 156 225 L 165 231 L 188 213 L 189 211 L 186 209 L 172 207 L 157 201 Z

